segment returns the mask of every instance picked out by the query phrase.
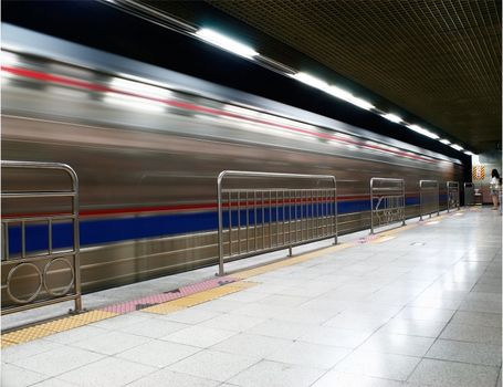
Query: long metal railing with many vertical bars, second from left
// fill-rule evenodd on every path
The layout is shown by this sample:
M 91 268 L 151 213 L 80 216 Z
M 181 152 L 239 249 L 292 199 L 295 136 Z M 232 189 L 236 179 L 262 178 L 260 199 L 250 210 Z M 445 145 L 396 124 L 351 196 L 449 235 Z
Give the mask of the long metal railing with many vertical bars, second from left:
M 222 188 L 226 181 L 232 187 Z M 226 260 L 285 248 L 292 255 L 292 247 L 328 238 L 337 243 L 334 176 L 224 170 L 217 186 L 219 275 Z

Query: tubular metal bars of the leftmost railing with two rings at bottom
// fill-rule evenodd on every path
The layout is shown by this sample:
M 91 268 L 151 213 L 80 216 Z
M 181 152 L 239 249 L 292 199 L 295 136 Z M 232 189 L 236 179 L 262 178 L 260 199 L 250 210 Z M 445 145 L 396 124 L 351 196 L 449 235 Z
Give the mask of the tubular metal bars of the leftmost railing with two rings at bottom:
M 33 169 L 33 170 L 60 170 L 64 171 L 71 179 L 71 189 L 70 190 L 32 190 L 32 191 L 14 191 L 14 190 L 3 190 L 2 200 L 15 200 L 15 199 L 40 199 L 40 198 L 57 198 L 57 197 L 67 197 L 71 199 L 71 211 L 67 213 L 57 213 L 57 215 L 43 215 L 43 216 L 14 216 L 2 218 L 2 260 L 1 265 L 2 270 L 6 268 L 9 269 L 6 282 L 6 291 L 9 295 L 9 299 L 17 304 L 17 306 L 2 307 L 1 314 L 10 314 L 14 312 L 25 311 L 33 307 L 51 305 L 63 301 L 74 300 L 75 302 L 75 312 L 82 311 L 82 294 L 81 294 L 81 263 L 80 263 L 80 232 L 78 232 L 78 177 L 75 170 L 62 163 L 36 163 L 36 161 L 12 161 L 12 160 L 2 160 L 1 168 L 18 168 L 18 169 Z M 2 189 L 4 189 L 6 184 Z M 73 245 L 72 249 L 61 251 L 53 248 L 53 224 L 56 221 L 70 221 L 72 223 L 73 231 Z M 34 223 L 40 224 L 41 222 L 46 223 L 48 229 L 48 248 L 44 252 L 34 252 L 30 253 L 27 251 L 27 229 L 30 224 Z M 12 257 L 10 243 L 10 229 L 13 224 L 20 224 L 21 242 L 20 242 L 20 255 Z M 66 258 L 73 258 L 73 263 L 70 263 L 70 260 Z M 40 264 L 46 261 L 41 271 Z M 51 289 L 48 284 L 48 276 L 50 268 L 54 262 L 63 262 L 70 266 L 72 279 L 69 284 L 64 286 L 63 290 L 55 291 Z M 34 270 L 34 276 L 38 279 L 39 284 L 38 289 L 25 297 L 20 297 L 12 293 L 12 281 L 14 273 L 21 268 L 31 268 Z M 30 278 L 30 275 L 24 275 Z M 33 275 L 31 275 L 33 276 Z M 3 285 L 3 284 L 2 284 Z M 40 297 L 42 289 L 45 290 L 45 297 L 36 301 Z

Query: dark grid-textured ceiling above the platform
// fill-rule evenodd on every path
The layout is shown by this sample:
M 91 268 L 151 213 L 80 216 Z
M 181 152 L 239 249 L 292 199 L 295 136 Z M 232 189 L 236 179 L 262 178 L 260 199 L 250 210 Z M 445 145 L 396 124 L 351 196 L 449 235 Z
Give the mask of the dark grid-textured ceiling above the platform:
M 418 116 L 472 150 L 501 148 L 499 0 L 142 2 L 197 27 L 218 24 L 261 54 L 374 96 L 383 111 Z

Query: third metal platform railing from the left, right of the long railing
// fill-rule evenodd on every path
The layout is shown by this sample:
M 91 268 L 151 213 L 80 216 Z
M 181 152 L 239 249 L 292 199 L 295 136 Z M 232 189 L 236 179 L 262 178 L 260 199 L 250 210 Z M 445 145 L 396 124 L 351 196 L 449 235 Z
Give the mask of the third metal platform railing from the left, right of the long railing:
M 406 223 L 404 179 L 373 177 L 370 179 L 370 233 L 376 227 L 401 221 Z

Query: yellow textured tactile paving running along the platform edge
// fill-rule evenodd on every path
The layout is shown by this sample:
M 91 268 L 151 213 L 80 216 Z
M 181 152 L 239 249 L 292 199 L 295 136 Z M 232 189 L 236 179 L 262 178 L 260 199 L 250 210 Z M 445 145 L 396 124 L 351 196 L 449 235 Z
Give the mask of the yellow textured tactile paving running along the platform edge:
M 461 211 L 458 211 L 457 213 L 462 215 Z M 444 218 L 444 217 L 446 217 L 444 215 L 439 216 L 439 217 L 433 217 L 431 219 L 426 220 L 425 222 L 426 223 L 428 223 L 429 221 L 438 222 L 438 221 L 441 221 L 442 218 Z M 377 234 L 376 238 L 370 243 L 386 242 L 388 240 L 396 238 L 396 237 L 394 237 L 394 234 L 401 232 L 401 231 L 409 230 L 409 229 L 418 227 L 418 226 L 419 226 L 419 223 L 407 224 L 407 226 L 399 227 L 399 228 L 396 228 L 392 230 L 384 231 L 384 232 Z M 156 314 L 169 314 L 172 312 L 181 311 L 181 310 L 190 307 L 190 306 L 199 305 L 205 302 L 219 299 L 223 295 L 240 292 L 244 289 L 256 285 L 258 283 L 255 283 L 255 282 L 243 281 L 251 276 L 263 274 L 263 273 L 266 273 L 266 272 L 270 272 L 273 270 L 277 270 L 281 268 L 290 266 L 290 265 L 293 265 L 293 264 L 296 264 L 300 262 L 305 262 L 305 261 L 308 261 L 308 260 L 312 260 L 312 259 L 315 259 L 315 258 L 318 258 L 322 255 L 327 255 L 333 252 L 347 249 L 352 245 L 354 245 L 354 243 L 342 243 L 342 244 L 333 245 L 331 248 L 313 251 L 311 253 L 306 253 L 303 255 L 290 258 L 290 259 L 286 259 L 286 260 L 280 261 L 280 262 L 274 262 L 274 263 L 265 264 L 263 266 L 237 272 L 237 273 L 232 274 L 232 278 L 241 280 L 241 281 L 232 282 L 230 284 L 213 287 L 213 289 L 200 292 L 200 293 L 190 294 L 188 296 L 185 296 L 185 297 L 181 297 L 178 300 L 174 300 L 174 301 L 165 302 L 165 303 L 161 303 L 158 305 L 149 306 L 149 307 L 142 310 L 142 312 L 156 313 Z M 113 312 L 91 311 L 91 312 L 86 312 L 86 313 L 82 313 L 82 314 L 76 314 L 73 316 L 67 316 L 67 317 L 64 317 L 61 320 L 52 321 L 49 323 L 22 328 L 22 330 L 15 331 L 15 332 L 6 333 L 6 334 L 1 335 L 0 348 L 7 348 L 12 345 L 31 342 L 36 338 L 50 336 L 55 333 L 69 331 L 69 330 L 72 330 L 72 328 L 75 328 L 78 326 L 87 325 L 87 324 L 91 324 L 91 323 L 94 323 L 97 321 L 102 321 L 105 318 L 111 318 L 111 317 L 114 317 L 117 315 L 118 315 L 118 313 L 113 313 Z

